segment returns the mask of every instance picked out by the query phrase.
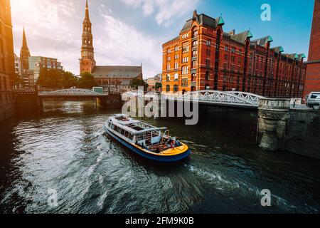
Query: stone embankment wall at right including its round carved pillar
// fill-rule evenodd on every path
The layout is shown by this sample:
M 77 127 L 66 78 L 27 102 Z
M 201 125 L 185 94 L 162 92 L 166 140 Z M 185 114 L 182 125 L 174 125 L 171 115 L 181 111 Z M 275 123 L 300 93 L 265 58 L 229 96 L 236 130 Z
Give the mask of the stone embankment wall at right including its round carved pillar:
M 260 100 L 257 144 L 265 150 L 288 151 L 320 159 L 320 111 L 297 100 Z

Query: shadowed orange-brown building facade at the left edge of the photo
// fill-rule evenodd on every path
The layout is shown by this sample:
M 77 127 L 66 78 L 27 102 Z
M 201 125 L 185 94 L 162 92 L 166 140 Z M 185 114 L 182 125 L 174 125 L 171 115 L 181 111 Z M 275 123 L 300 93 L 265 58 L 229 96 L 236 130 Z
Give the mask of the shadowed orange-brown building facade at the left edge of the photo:
M 11 91 L 14 68 L 14 40 L 9 0 L 0 1 L 0 121 L 14 115 Z

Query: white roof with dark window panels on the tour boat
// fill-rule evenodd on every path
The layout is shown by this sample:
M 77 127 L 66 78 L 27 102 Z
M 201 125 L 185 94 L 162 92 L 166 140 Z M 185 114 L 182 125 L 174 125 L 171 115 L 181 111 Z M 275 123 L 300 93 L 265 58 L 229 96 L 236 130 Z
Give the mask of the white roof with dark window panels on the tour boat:
M 120 120 L 119 118 L 125 118 L 126 120 Z M 147 123 L 143 123 L 139 120 L 134 120 L 129 117 L 129 115 L 123 115 L 123 114 L 117 114 L 110 117 L 112 120 L 112 123 L 115 123 L 118 127 L 121 127 L 122 129 L 128 131 L 129 133 L 132 133 L 132 135 L 139 135 L 142 133 L 147 133 L 155 130 L 167 130 L 168 128 L 156 128 L 152 125 L 149 125 Z M 135 130 L 133 128 L 130 128 L 128 125 L 135 124 L 135 123 L 142 123 L 143 125 L 146 125 L 148 128 L 143 130 Z

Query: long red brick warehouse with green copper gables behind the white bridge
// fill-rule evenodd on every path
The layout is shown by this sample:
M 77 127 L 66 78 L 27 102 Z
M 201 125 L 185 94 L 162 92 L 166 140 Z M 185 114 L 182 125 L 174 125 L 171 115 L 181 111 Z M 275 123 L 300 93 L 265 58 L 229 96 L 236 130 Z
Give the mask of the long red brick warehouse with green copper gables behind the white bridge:
M 222 17 L 193 12 L 179 36 L 163 44 L 162 90 L 240 90 L 267 97 L 302 97 L 306 57 L 271 48 L 272 37 L 223 31 Z

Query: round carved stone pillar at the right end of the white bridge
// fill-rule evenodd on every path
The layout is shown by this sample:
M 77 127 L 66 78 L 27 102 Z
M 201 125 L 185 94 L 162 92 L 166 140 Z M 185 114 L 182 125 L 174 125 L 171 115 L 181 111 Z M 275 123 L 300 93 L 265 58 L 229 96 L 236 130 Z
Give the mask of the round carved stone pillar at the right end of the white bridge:
M 262 98 L 258 108 L 257 144 L 265 150 L 285 150 L 290 99 Z

